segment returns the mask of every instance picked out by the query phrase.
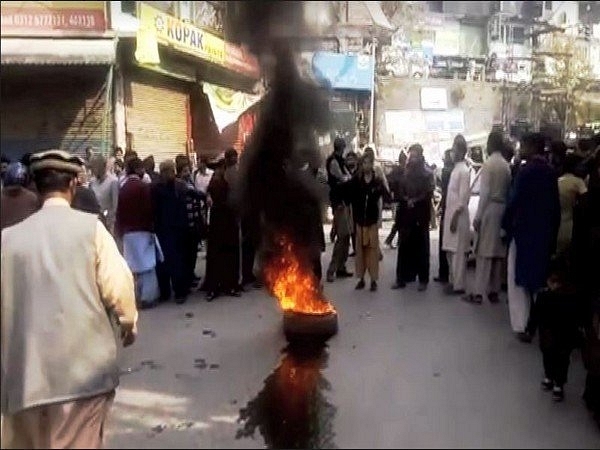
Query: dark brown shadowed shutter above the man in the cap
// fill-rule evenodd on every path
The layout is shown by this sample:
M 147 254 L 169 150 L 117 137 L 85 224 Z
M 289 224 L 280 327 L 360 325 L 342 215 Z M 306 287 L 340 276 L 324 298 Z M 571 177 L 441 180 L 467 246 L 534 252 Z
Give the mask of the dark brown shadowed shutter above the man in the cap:
M 83 156 L 85 148 L 92 146 L 108 153 L 113 118 L 110 102 L 106 108 L 105 77 L 104 71 L 89 77 L 75 73 L 3 76 L 2 152 L 18 158 L 60 148 Z

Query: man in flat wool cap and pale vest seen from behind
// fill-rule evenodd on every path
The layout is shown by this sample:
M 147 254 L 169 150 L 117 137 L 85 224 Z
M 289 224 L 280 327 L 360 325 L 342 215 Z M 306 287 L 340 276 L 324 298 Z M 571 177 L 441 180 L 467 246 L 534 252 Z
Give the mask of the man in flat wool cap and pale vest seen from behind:
M 83 162 L 31 157 L 42 208 L 2 231 L 4 448 L 99 448 L 133 343 L 133 277 L 98 217 L 70 207 Z

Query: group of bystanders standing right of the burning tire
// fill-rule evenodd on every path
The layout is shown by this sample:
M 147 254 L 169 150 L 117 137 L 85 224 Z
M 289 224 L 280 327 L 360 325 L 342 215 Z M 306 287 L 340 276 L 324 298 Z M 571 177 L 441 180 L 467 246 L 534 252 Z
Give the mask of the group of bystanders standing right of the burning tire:
M 415 144 L 400 154 L 384 183 L 373 167 L 370 149 L 356 162 L 344 158 L 344 142 L 336 140 L 327 160 L 335 238 L 328 281 L 349 277 L 349 246 L 356 252 L 357 289 L 377 289 L 381 259 L 378 227 L 381 199 L 396 204 L 394 224 L 386 243 L 398 234 L 396 280 L 403 289 L 418 279 L 418 290 L 429 281 L 429 231 L 436 178 L 440 180 L 439 264 L 435 281 L 444 292 L 480 305 L 499 303 L 507 290 L 510 322 L 516 336 L 529 343 L 539 332 L 545 372 L 542 387 L 555 401 L 564 398 L 570 355 L 581 347 L 588 370 L 585 401 L 600 412 L 600 143 L 598 135 L 576 148 L 548 143 L 540 133 L 520 139 L 520 148 L 501 132 L 487 141 L 487 159 L 477 170 L 468 160 L 468 145 L 457 135 L 444 154 L 438 178 Z M 516 151 L 518 150 L 518 151 Z M 469 212 L 475 181 L 479 201 Z M 474 230 L 474 232 L 472 231 Z M 467 280 L 469 255 L 475 255 L 475 276 Z

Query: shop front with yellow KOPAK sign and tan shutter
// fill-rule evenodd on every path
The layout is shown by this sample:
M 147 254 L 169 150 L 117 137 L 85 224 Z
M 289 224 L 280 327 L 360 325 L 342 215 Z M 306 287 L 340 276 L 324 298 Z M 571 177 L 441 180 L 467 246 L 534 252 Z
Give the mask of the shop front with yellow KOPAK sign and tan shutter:
M 124 124 L 116 123 L 122 129 L 119 142 L 141 157 L 152 154 L 157 163 L 178 154 L 219 154 L 228 142 L 222 111 L 209 95 L 217 92 L 227 106 L 252 92 L 260 76 L 256 59 L 145 3 L 138 17 L 136 40 L 124 40 L 119 48 L 116 109 L 124 110 Z

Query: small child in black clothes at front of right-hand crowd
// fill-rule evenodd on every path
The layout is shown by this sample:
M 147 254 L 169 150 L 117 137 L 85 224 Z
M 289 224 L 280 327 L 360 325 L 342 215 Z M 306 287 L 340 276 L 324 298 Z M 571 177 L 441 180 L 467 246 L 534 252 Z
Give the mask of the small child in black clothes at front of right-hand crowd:
M 545 372 L 542 389 L 551 390 L 556 402 L 564 399 L 571 351 L 577 346 L 581 323 L 581 305 L 568 273 L 564 259 L 554 260 L 547 288 L 535 303 Z

